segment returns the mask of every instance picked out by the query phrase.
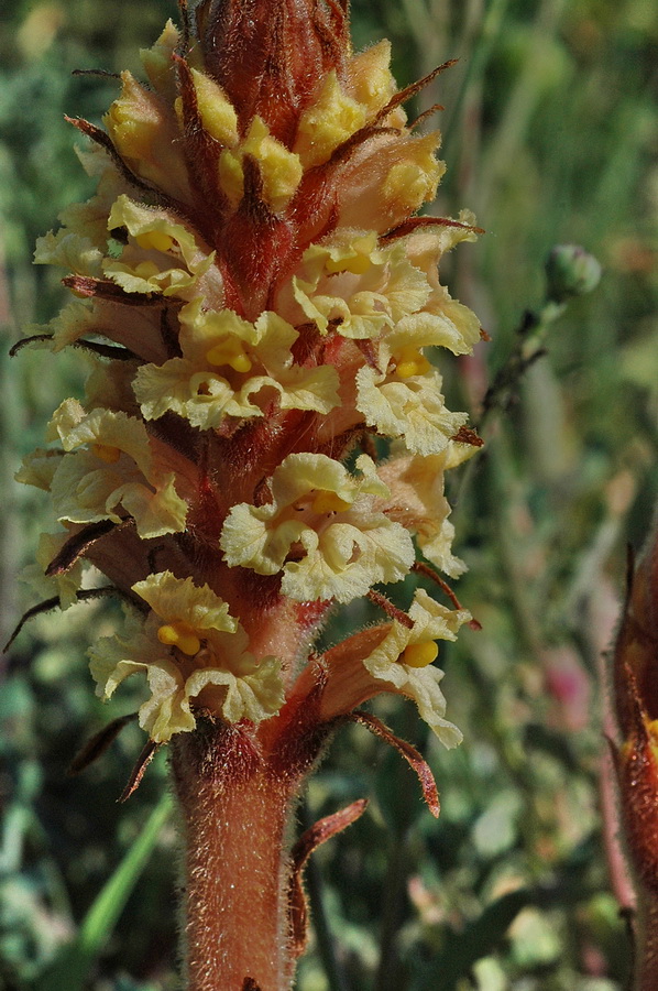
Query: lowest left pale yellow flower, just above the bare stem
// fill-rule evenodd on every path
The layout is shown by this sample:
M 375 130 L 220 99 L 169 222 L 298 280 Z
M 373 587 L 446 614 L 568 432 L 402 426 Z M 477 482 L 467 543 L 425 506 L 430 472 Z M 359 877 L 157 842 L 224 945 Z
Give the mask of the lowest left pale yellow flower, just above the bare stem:
M 278 661 L 249 653 L 246 633 L 207 585 L 162 571 L 133 591 L 151 612 L 145 621 L 130 614 L 124 636 L 102 638 L 89 652 L 90 667 L 106 699 L 129 675 L 146 675 L 152 694 L 140 709 L 140 726 L 152 740 L 166 743 L 193 730 L 193 706 L 228 722 L 260 722 L 278 711 Z

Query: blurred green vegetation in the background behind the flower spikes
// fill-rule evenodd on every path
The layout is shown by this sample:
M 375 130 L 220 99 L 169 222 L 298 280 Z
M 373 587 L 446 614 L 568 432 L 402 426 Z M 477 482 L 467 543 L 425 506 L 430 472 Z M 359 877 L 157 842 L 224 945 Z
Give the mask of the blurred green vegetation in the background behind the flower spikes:
M 164 0 L 17 0 L 0 24 L 4 640 L 36 601 L 15 575 L 51 526 L 45 498 L 12 476 L 85 371 L 75 351 L 8 357 L 63 300 L 58 273 L 31 265 L 36 237 L 91 192 L 63 115 L 98 122 L 116 92 L 72 70 L 138 73 L 138 48 L 169 15 Z M 541 306 L 552 246 L 582 244 L 603 276 L 550 325 L 546 356 L 501 396 L 485 453 L 452 483 L 456 548 L 470 568 L 458 592 L 483 627 L 442 655 L 463 745 L 440 750 L 412 707 L 376 707 L 427 755 L 440 819 L 399 758 L 359 727 L 341 732 L 311 782 L 300 821 L 372 801 L 315 854 L 298 989 L 621 991 L 630 948 L 605 839 L 615 827 L 602 653 L 626 542 L 641 545 L 658 491 L 658 8 L 354 0 L 352 17 L 357 47 L 392 39 L 401 84 L 460 59 L 417 107 L 446 108 L 438 211 L 469 207 L 486 229 L 443 269 L 492 337 L 446 369 L 451 409 L 479 421 L 515 328 Z M 338 622 L 364 618 L 354 607 Z M 0 662 L 1 989 L 176 987 L 166 755 L 124 806 L 117 797 L 143 742 L 134 726 L 90 770 L 66 774 L 92 732 L 140 701 L 131 683 L 107 706 L 94 697 L 90 631 L 111 632 L 116 619 L 99 603 L 39 617 Z

